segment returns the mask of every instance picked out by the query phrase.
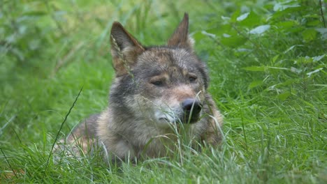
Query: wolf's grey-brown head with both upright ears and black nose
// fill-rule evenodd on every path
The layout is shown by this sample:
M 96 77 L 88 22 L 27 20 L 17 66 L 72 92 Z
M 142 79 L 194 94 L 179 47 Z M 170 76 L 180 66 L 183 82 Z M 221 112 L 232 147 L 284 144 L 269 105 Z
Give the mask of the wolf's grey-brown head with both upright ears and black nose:
M 118 116 L 159 126 L 196 123 L 205 105 L 208 72 L 194 53 L 185 13 L 167 45 L 144 47 L 124 29 L 112 24 L 110 42 L 116 79 L 110 106 Z

